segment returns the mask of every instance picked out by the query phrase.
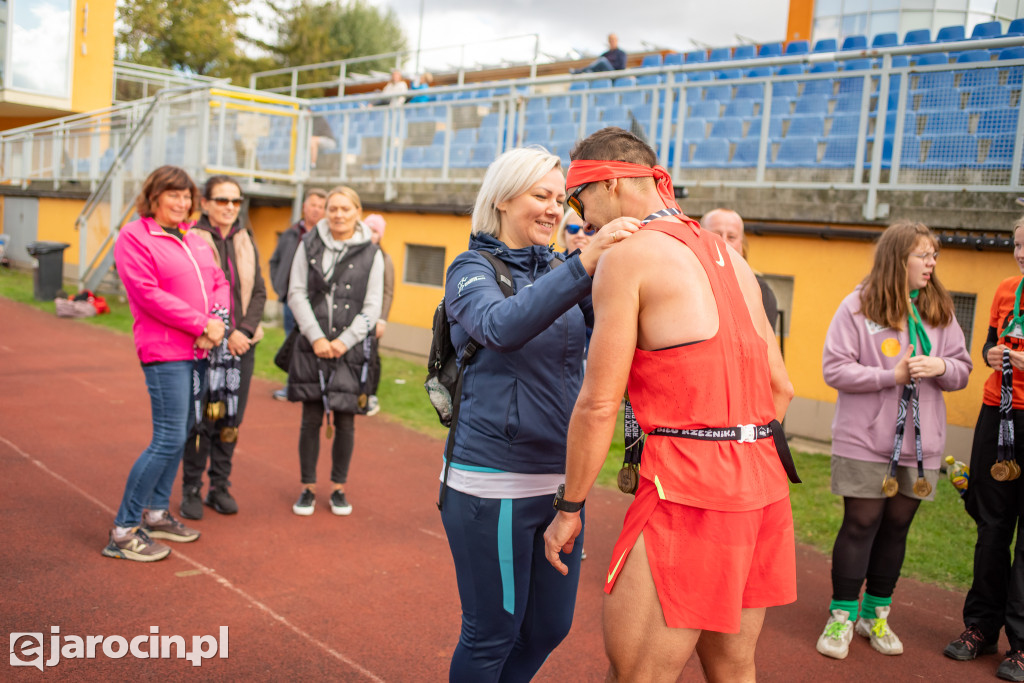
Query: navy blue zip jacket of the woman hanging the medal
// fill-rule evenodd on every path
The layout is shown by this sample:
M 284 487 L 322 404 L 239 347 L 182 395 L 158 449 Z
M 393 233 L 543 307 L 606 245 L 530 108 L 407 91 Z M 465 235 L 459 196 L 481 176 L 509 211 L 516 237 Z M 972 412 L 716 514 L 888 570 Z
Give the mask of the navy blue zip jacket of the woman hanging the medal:
M 565 472 L 565 434 L 583 384 L 593 281 L 570 256 L 550 247 L 509 249 L 473 236 L 470 251 L 447 269 L 444 305 L 459 353 L 472 337 L 453 462 L 503 472 Z M 505 298 L 495 269 L 477 253 L 508 264 L 515 295 Z

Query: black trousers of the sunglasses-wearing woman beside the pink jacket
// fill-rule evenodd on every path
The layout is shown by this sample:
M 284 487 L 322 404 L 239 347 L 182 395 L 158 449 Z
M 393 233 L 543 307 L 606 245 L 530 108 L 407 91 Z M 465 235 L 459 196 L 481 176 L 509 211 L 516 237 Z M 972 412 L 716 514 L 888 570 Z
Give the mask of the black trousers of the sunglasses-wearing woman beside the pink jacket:
M 251 346 L 242 356 L 241 382 L 239 385 L 239 413 L 236 426 L 242 424 L 246 414 L 246 403 L 249 402 L 249 385 L 252 384 L 253 370 L 256 368 L 256 346 Z M 193 427 L 191 433 L 185 439 L 184 457 L 181 459 L 182 485 L 201 486 L 203 471 L 207 462 L 210 463 L 210 486 L 224 486 L 231 476 L 231 458 L 238 441 L 228 443 L 220 440 L 220 430 L 227 426 L 227 420 L 221 418 L 216 422 L 201 420 Z M 199 444 L 196 441 L 199 437 Z M 241 438 L 241 431 L 240 431 Z

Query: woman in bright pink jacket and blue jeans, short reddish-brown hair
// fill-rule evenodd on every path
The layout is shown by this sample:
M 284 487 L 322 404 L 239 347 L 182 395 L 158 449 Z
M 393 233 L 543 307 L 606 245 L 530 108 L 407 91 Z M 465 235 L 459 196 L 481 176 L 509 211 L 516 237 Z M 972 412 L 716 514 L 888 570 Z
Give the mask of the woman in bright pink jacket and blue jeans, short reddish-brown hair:
M 135 200 L 141 216 L 114 245 L 118 274 L 135 318 L 132 331 L 153 408 L 153 440 L 128 474 L 103 555 L 161 560 L 171 549 L 154 541 L 199 538 L 170 514 L 170 495 L 196 420 L 206 377 L 206 353 L 224 336 L 215 307 L 228 305 L 228 287 L 209 245 L 185 222 L 196 210 L 196 184 L 180 168 L 150 174 Z

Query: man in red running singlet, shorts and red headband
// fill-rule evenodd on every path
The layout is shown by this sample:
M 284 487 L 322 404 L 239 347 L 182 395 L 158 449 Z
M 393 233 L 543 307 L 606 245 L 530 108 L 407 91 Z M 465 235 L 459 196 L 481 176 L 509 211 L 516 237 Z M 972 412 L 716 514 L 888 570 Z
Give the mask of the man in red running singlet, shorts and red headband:
M 753 681 L 765 608 L 796 600 L 773 422 L 793 385 L 761 290 L 740 254 L 682 215 L 641 139 L 605 128 L 571 158 L 566 193 L 581 218 L 642 227 L 594 278 L 594 334 L 547 558 L 565 573 L 559 552 L 580 532 L 577 510 L 628 387 L 648 437 L 605 583 L 608 680 L 675 681 L 696 650 L 709 680 Z

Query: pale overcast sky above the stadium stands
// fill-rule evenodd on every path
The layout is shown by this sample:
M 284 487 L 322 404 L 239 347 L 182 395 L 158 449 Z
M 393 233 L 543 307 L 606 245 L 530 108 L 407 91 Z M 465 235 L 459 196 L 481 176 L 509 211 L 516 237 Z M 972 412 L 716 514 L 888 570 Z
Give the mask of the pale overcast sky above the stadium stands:
M 691 39 L 713 46 L 736 45 L 737 36 L 763 43 L 785 38 L 787 0 L 369 0 L 398 15 L 410 49 L 417 47 L 423 6 L 421 67 L 458 67 L 461 51 L 431 48 L 477 43 L 467 47 L 468 66 L 532 58 L 535 38 L 551 57 L 600 54 L 607 35 L 618 35 L 627 52 L 669 48 L 694 49 Z M 253 0 L 259 4 L 260 0 Z M 641 10 L 640 7 L 643 7 Z M 513 36 L 527 36 L 500 40 Z M 542 54 L 542 60 L 545 57 Z M 415 59 L 407 65 L 414 69 Z M 411 74 L 410 74 L 411 75 Z

